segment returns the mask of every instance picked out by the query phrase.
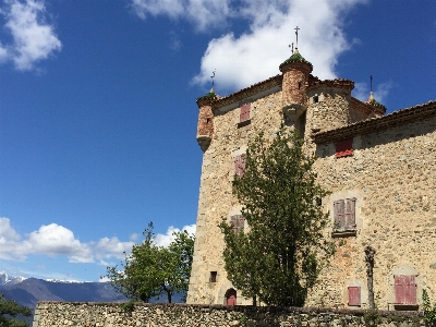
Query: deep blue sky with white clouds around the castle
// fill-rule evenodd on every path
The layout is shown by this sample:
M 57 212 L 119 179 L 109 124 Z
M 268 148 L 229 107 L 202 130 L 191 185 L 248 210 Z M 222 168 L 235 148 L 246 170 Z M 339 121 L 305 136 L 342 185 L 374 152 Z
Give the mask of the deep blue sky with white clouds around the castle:
M 434 0 L 0 0 L 0 272 L 96 281 L 141 242 L 195 230 L 195 99 L 276 75 L 388 112 L 436 98 Z

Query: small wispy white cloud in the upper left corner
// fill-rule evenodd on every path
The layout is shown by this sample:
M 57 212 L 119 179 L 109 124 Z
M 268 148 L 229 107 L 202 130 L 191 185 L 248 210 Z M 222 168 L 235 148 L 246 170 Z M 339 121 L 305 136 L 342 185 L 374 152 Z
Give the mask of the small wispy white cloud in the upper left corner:
M 52 25 L 47 23 L 44 0 L 4 0 L 1 14 L 12 43 L 0 43 L 0 62 L 12 61 L 17 70 L 28 71 L 62 48 Z

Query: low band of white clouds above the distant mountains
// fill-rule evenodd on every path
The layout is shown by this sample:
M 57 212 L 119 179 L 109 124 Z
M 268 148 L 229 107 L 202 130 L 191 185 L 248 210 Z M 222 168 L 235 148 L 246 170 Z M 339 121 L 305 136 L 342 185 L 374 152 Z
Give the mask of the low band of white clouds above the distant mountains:
M 181 230 L 195 233 L 195 225 L 184 226 Z M 156 243 L 168 246 L 173 240 L 172 232 L 180 229 L 170 227 L 166 234 L 157 234 Z M 133 238 L 132 238 L 133 237 Z M 111 258 L 123 259 L 124 252 L 130 253 L 135 244 L 131 241 L 122 242 L 118 238 L 102 238 L 97 242 L 81 242 L 68 228 L 57 225 L 43 225 L 38 230 L 25 238 L 20 235 L 11 226 L 9 218 L 0 217 L 0 259 L 23 261 L 28 255 L 59 256 L 65 255 L 70 263 L 99 263 L 108 266 Z

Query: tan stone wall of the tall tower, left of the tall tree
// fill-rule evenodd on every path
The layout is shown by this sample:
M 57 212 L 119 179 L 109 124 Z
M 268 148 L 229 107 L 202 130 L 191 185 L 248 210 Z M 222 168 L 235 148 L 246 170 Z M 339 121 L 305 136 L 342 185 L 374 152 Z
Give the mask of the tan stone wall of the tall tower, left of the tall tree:
M 225 244 L 218 223 L 240 213 L 231 190 L 234 157 L 245 153 L 249 140 L 261 130 L 267 131 L 267 137 L 275 135 L 282 121 L 281 100 L 278 92 L 252 101 L 251 123 L 242 128 L 238 128 L 238 108 L 215 114 L 214 137 L 203 157 L 187 303 L 223 304 L 226 291 L 232 288 L 223 268 Z M 210 271 L 217 271 L 216 282 L 209 282 Z M 238 304 L 251 304 L 251 300 L 239 296 Z

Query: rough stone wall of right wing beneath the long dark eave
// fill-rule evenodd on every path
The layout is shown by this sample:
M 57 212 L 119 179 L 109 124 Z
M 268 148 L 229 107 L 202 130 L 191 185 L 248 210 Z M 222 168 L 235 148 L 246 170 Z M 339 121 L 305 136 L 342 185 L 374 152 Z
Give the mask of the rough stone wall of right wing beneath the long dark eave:
M 332 192 L 324 199 L 325 210 L 332 213 L 334 198 L 358 194 L 361 226 L 358 221 L 356 237 L 336 239 L 338 252 L 323 271 L 308 305 L 347 307 L 347 287 L 351 284 L 367 293 L 365 245 L 376 250 L 374 291 L 379 308 L 393 308 L 395 275 L 415 276 L 417 304 L 424 288 L 436 299 L 435 145 L 433 116 L 356 135 L 350 157 L 336 158 L 334 143 L 317 146 L 320 158 L 315 170 L 319 183 Z M 331 229 L 327 238 L 329 232 Z

